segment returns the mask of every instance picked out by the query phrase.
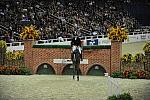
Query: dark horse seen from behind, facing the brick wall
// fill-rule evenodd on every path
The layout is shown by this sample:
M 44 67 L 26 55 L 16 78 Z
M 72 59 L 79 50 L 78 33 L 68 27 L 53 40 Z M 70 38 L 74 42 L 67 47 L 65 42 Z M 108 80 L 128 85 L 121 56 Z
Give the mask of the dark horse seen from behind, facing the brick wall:
M 77 81 L 79 81 L 79 65 L 80 65 L 80 52 L 76 48 L 72 53 L 72 62 L 73 62 L 73 79 L 75 79 L 75 74 L 77 75 Z

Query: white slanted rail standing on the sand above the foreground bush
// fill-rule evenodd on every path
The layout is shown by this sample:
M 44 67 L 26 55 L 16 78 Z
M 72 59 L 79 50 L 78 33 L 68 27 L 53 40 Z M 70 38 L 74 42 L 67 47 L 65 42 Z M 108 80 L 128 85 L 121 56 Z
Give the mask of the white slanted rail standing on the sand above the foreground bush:
M 117 78 L 108 76 L 108 96 L 121 94 L 121 88 Z

